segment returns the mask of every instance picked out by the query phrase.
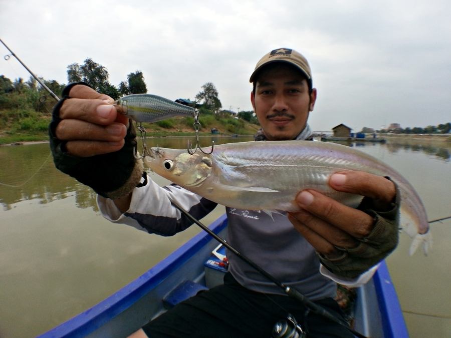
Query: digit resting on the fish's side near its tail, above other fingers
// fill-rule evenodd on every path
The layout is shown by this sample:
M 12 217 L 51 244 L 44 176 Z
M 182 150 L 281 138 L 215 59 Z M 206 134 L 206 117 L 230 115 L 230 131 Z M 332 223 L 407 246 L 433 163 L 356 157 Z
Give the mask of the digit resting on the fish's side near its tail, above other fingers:
M 396 194 L 392 181 L 363 171 L 344 171 L 331 175 L 329 185 L 338 191 L 391 202 Z

